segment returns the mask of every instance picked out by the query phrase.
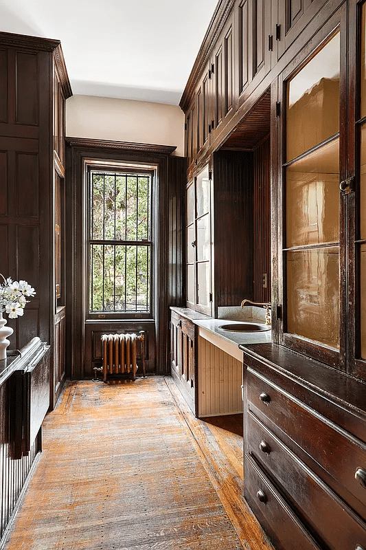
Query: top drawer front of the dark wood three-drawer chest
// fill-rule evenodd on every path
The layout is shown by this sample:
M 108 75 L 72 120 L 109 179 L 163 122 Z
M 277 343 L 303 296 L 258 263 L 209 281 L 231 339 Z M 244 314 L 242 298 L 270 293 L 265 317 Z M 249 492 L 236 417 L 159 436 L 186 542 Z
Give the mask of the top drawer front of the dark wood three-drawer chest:
M 366 445 L 247 371 L 249 410 L 260 411 L 366 505 Z

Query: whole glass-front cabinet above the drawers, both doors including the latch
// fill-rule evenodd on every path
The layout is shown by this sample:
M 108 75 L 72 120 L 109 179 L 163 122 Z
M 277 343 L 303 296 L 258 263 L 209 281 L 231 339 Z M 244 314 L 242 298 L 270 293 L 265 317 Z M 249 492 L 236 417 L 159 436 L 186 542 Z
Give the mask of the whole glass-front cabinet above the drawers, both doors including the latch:
M 346 15 L 343 5 L 279 85 L 279 343 L 366 379 L 365 5 L 348 49 Z

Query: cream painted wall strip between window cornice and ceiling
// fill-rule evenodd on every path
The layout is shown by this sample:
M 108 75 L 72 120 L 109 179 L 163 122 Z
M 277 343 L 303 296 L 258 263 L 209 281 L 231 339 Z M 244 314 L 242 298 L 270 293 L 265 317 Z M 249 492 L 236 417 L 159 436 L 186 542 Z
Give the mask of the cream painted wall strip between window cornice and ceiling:
M 174 145 L 184 156 L 184 114 L 176 105 L 97 96 L 66 102 L 66 135 L 156 145 Z

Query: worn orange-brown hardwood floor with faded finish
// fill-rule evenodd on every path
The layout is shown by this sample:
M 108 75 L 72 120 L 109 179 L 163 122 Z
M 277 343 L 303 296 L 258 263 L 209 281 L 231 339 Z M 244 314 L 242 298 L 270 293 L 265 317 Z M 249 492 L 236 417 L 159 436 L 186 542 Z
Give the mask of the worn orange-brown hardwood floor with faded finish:
M 69 383 L 5 550 L 271 549 L 241 496 L 240 434 L 206 420 L 170 377 Z

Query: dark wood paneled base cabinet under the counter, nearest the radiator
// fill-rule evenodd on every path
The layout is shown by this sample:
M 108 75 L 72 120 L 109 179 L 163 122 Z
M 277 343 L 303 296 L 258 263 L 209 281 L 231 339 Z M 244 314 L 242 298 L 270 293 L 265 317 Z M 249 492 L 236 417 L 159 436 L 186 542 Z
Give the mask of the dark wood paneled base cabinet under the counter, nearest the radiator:
M 171 311 L 170 366 L 176 385 L 194 415 L 198 415 L 196 384 L 196 338 L 194 323 Z M 196 410 L 197 409 L 197 410 Z

